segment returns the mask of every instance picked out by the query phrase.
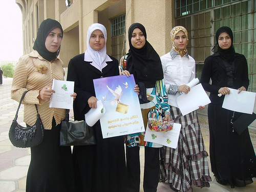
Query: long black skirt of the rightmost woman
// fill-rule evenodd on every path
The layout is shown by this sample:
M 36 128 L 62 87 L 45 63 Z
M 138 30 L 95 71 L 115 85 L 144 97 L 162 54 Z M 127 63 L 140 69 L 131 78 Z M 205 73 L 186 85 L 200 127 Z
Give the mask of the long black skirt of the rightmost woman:
M 233 131 L 232 115 L 233 111 L 222 108 L 222 103 L 208 105 L 211 170 L 222 180 L 245 186 L 256 176 L 256 157 L 248 129 L 241 135 Z

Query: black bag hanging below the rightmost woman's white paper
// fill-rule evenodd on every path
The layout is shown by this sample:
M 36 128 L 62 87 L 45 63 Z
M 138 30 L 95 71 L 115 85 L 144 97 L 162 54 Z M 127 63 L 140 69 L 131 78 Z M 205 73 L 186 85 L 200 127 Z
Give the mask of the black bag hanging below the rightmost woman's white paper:
M 231 119 L 231 125 L 233 126 L 233 129 L 236 130 L 238 135 L 241 135 L 248 126 L 256 119 L 256 114 L 246 114 L 243 113 L 238 119 L 233 121 L 234 113 Z

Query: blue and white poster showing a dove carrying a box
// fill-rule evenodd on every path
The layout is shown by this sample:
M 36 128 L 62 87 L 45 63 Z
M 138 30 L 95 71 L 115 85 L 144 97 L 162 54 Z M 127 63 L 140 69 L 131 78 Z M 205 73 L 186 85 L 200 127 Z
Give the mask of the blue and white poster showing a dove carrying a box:
M 94 79 L 96 98 L 105 114 L 100 118 L 103 138 L 144 131 L 139 98 L 134 92 L 134 76 L 118 75 Z

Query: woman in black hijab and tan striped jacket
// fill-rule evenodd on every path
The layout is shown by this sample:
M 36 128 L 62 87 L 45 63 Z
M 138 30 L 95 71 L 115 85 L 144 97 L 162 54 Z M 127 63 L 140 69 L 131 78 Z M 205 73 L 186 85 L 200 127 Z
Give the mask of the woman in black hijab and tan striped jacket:
M 26 191 L 74 191 L 74 170 L 70 146 L 59 146 L 59 129 L 65 109 L 50 108 L 54 90 L 52 80 L 64 80 L 63 62 L 58 58 L 63 30 L 59 22 L 44 20 L 38 29 L 31 53 L 19 58 L 14 71 L 11 98 L 23 99 L 24 122 L 32 126 L 36 120 L 37 104 L 44 140 L 31 147 Z M 76 94 L 72 94 L 74 98 Z M 33 140 L 33 137 L 32 137 Z

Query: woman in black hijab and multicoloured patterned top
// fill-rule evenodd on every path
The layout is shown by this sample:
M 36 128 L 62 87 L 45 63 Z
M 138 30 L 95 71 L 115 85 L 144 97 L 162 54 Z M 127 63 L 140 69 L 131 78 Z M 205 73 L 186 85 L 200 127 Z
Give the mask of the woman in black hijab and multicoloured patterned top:
M 140 88 L 140 107 L 146 128 L 149 117 L 170 120 L 169 105 L 163 69 L 159 55 L 146 40 L 146 30 L 139 23 L 132 24 L 128 31 L 130 50 L 121 58 L 121 75 L 134 75 Z M 162 145 L 143 141 L 143 133 L 127 135 L 126 169 L 127 191 L 140 191 L 139 145 L 144 146 L 144 180 L 143 189 L 157 191 L 159 176 L 159 147 Z

